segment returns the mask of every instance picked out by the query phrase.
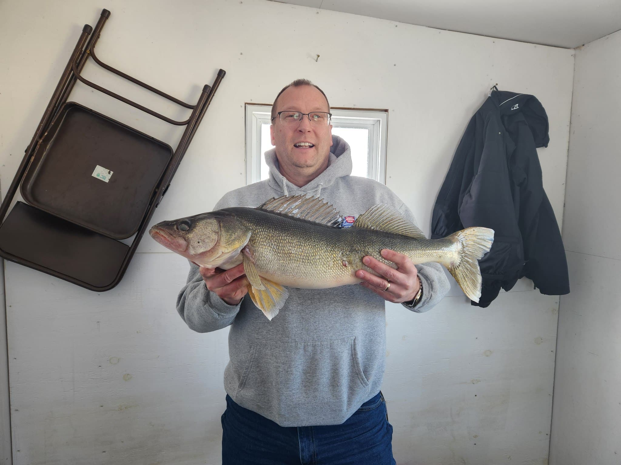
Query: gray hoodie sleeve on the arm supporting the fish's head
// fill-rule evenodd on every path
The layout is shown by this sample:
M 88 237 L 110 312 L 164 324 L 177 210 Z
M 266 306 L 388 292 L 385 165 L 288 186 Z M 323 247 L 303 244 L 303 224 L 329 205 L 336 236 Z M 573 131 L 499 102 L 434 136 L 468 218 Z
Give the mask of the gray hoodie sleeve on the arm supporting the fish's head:
M 214 210 L 229 206 L 224 199 L 220 199 Z M 232 324 L 242 301 L 237 305 L 229 305 L 209 291 L 199 273 L 199 267 L 190 262 L 188 280 L 177 296 L 177 311 L 190 329 L 210 332 Z

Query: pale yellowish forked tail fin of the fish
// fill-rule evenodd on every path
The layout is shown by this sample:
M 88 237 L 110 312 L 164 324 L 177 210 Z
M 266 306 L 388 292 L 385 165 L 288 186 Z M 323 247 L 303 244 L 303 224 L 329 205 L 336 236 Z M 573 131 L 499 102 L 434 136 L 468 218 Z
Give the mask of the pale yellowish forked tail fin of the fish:
M 494 242 L 494 230 L 489 228 L 466 228 L 446 237 L 459 244 L 458 257 L 446 265 L 461 290 L 474 302 L 481 298 L 481 270 L 478 260 Z

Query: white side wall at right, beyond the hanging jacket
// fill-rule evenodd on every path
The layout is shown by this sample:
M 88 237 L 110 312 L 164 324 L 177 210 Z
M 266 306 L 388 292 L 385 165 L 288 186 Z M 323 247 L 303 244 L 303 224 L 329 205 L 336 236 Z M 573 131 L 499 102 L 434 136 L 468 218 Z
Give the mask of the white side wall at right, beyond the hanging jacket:
M 550 463 L 621 463 L 621 32 L 576 50 Z

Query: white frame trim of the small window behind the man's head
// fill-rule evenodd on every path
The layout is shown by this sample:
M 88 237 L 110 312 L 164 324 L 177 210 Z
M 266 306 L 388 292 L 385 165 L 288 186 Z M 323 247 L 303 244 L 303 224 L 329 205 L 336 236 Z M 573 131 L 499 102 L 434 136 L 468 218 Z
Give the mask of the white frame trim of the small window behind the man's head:
M 332 125 L 369 130 L 367 177 L 386 184 L 388 112 L 332 108 Z M 271 106 L 246 104 L 246 184 L 261 180 L 261 125 L 271 124 Z

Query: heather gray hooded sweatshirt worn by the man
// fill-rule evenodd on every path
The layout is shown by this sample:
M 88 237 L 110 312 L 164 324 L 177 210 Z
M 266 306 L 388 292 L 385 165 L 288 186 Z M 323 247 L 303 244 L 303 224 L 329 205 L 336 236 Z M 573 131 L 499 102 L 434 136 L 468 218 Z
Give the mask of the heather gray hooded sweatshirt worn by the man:
M 415 223 L 412 212 L 388 187 L 350 175 L 350 148 L 338 136 L 332 139 L 329 166 L 309 184 L 297 187 L 286 180 L 271 149 L 265 153 L 270 178 L 227 193 L 214 210 L 254 207 L 272 197 L 307 193 L 329 201 L 343 216 L 357 218 L 385 203 Z M 449 283 L 438 263 L 417 269 L 424 292 L 412 311 L 423 312 L 445 296 Z M 177 311 L 197 332 L 230 326 L 224 387 L 237 404 L 284 427 L 343 423 L 381 387 L 384 300 L 361 285 L 288 291 L 284 307 L 269 321 L 248 296 L 231 306 L 208 291 L 191 263 Z

